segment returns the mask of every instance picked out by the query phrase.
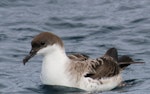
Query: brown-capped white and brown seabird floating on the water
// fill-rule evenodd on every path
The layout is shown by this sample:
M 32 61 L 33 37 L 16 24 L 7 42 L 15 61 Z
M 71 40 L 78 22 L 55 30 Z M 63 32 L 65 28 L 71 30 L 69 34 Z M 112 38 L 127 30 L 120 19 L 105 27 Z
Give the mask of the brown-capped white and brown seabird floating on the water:
M 107 91 L 122 82 L 121 71 L 134 62 L 129 56 L 118 58 L 116 48 L 102 57 L 91 59 L 83 54 L 67 55 L 62 40 L 50 32 L 42 32 L 31 42 L 32 49 L 24 59 L 43 55 L 41 81 L 45 85 L 75 87 L 85 91 Z

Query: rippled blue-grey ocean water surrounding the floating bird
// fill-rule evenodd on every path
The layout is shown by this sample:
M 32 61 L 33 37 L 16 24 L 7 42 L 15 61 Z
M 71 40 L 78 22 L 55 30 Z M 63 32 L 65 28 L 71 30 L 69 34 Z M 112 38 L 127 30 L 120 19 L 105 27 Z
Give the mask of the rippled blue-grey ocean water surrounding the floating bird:
M 149 5 L 149 0 L 1 0 L 0 94 L 86 94 L 43 86 L 40 56 L 22 64 L 32 38 L 43 31 L 60 36 L 68 54 L 96 58 L 116 47 L 119 55 L 146 62 L 123 72 L 127 86 L 102 94 L 149 94 Z

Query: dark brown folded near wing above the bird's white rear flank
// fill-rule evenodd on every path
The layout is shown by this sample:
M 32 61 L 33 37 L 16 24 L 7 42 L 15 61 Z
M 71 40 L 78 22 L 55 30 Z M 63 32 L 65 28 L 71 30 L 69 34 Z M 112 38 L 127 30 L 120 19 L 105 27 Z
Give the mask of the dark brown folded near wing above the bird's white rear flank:
M 110 56 L 104 56 L 91 63 L 92 70 L 85 75 L 93 79 L 112 77 L 119 74 L 119 66 Z

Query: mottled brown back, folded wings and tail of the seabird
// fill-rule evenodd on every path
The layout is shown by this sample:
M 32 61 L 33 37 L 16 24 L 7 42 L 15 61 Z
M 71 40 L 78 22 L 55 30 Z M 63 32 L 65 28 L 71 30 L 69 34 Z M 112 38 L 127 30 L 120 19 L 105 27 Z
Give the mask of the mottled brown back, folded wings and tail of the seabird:
M 122 56 L 118 60 L 116 48 L 110 48 L 104 56 L 97 59 L 91 59 L 83 54 L 72 54 L 68 57 L 73 61 L 69 65 L 71 66 L 69 68 L 70 74 L 76 74 L 76 77 L 80 77 L 82 73 L 88 71 L 84 77 L 92 79 L 113 77 L 130 64 L 143 63 L 134 62 L 129 56 Z

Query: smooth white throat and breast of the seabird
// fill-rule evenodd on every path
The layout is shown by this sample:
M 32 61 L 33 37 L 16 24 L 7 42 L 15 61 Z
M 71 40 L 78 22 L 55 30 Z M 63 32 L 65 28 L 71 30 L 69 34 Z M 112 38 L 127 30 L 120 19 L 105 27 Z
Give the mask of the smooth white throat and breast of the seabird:
M 68 86 L 66 64 L 69 59 L 66 56 L 64 48 L 59 45 L 47 46 L 39 51 L 39 54 L 44 54 L 41 80 L 43 84 L 48 85 L 65 85 Z

